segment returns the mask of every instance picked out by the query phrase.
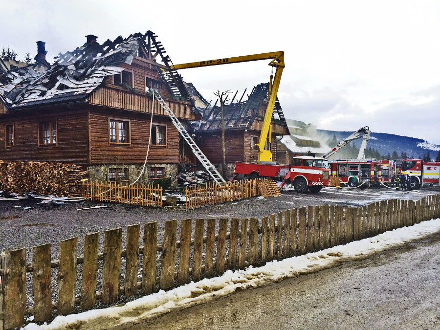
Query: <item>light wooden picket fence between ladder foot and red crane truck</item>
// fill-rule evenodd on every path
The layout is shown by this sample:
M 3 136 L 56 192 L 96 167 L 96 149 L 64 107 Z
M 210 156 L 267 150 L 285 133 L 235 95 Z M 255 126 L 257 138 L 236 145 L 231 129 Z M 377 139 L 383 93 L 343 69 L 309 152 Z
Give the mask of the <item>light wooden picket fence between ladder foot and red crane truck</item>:
M 231 182 L 224 185 L 208 183 L 185 187 L 186 209 L 223 203 L 255 196 L 278 196 L 277 184 L 269 178 Z

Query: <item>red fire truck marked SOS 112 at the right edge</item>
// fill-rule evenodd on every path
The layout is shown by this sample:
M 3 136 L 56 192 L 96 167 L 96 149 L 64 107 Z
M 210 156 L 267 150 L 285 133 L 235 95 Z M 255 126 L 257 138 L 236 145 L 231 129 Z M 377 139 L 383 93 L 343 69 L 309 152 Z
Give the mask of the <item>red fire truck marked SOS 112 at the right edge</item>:
M 411 189 L 440 185 L 440 162 L 421 159 L 404 159 L 400 172 L 411 176 Z

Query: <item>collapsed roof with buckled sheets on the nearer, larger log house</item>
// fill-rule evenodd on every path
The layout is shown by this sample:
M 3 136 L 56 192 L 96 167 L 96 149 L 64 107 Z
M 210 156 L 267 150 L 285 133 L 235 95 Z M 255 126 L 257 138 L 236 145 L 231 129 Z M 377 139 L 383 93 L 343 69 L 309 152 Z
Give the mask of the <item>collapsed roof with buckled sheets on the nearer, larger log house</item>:
M 119 36 L 102 45 L 96 42 L 95 36 L 87 38 L 83 46 L 59 54 L 56 62 L 44 71 L 30 67 L 3 73 L 7 78 L 2 80 L 5 86 L 0 86 L 0 100 L 8 110 L 85 100 L 106 77 L 123 71 L 119 67 L 122 63 L 130 65 L 141 45 L 148 47 L 149 53 L 160 55 L 158 59 L 161 58 L 164 64 L 158 64 L 156 69 L 171 94 L 191 100 L 180 75 L 170 68 L 170 57 L 163 55 L 164 48 L 153 32 L 136 33 L 125 39 Z M 159 67 L 164 68 L 163 73 Z

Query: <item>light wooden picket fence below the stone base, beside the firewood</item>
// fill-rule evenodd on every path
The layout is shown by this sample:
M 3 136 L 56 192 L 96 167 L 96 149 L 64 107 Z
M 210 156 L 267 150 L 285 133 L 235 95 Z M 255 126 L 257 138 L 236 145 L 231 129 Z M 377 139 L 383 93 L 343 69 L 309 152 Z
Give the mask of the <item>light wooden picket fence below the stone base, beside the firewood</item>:
M 159 185 L 131 185 L 128 181 L 83 182 L 83 199 L 162 207 L 162 188 Z

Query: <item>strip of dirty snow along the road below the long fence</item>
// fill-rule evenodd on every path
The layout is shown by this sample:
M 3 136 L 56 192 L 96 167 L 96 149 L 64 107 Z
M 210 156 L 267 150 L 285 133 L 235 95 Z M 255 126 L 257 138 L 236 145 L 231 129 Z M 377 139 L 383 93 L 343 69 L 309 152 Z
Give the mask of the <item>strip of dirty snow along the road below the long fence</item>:
M 332 267 L 341 261 L 365 258 L 373 253 L 416 240 L 439 230 L 440 219 L 424 221 L 411 227 L 379 234 L 373 238 L 283 261 L 273 261 L 261 267 L 251 266 L 245 270 L 228 270 L 222 276 L 204 279 L 197 283 L 191 282 L 167 292 L 160 290 L 122 307 L 95 309 L 80 314 L 57 316 L 49 325 L 38 326 L 35 323 L 30 323 L 24 329 L 109 329 L 134 319 L 154 318 L 178 308 L 204 303 L 245 288 L 264 286 L 299 274 L 313 273 Z

